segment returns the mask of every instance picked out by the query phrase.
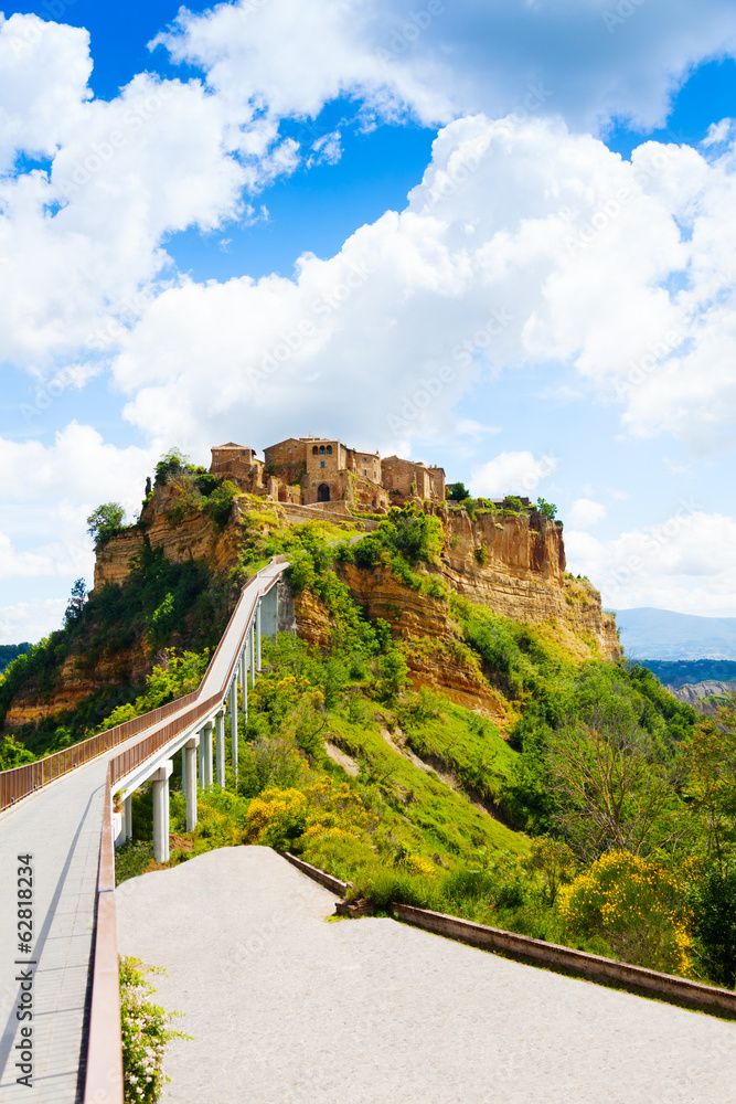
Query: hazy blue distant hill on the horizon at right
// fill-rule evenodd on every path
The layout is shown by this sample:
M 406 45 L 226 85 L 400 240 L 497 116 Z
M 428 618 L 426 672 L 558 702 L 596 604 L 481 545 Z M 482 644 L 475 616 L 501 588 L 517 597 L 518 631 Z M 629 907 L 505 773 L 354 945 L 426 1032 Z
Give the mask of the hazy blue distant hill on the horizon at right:
M 736 660 L 736 617 L 697 617 L 643 606 L 617 611 L 616 620 L 629 659 Z

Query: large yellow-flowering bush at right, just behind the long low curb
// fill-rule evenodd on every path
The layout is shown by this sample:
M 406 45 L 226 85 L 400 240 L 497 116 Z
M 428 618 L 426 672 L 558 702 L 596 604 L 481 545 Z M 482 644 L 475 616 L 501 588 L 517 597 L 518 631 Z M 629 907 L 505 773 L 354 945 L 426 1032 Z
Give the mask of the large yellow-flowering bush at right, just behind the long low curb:
M 685 977 L 693 972 L 689 916 L 676 877 L 629 851 L 608 851 L 558 891 L 569 935 L 600 935 L 617 957 Z

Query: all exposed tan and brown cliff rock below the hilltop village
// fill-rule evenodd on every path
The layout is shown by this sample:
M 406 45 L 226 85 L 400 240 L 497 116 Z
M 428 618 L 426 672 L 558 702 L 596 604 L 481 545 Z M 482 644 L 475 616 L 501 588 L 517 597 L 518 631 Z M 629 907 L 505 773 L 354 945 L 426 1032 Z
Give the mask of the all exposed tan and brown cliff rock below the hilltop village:
M 182 511 L 175 486 L 156 489 L 141 523 L 113 537 L 97 552 L 95 591 L 106 583 L 125 584 L 131 558 L 145 540 L 162 549 L 168 560 L 203 561 L 213 574 L 227 576 L 242 546 L 244 526 L 253 531 L 288 527 L 313 520 L 314 508 L 299 508 L 241 496 L 233 502 L 230 520 L 217 527 L 202 511 Z M 474 520 L 465 511 L 440 508 L 445 531 L 439 562 L 429 569 L 455 592 L 473 603 L 514 620 L 546 625 L 565 650 L 583 660 L 617 659 L 620 655 L 612 615 L 600 607 L 598 592 L 587 580 L 565 572 L 562 527 L 538 513 L 503 516 L 480 513 Z M 341 519 L 348 522 L 349 519 Z M 373 529 L 375 522 L 352 522 L 355 529 Z M 508 703 L 482 677 L 477 658 L 461 644 L 447 597 L 433 597 L 403 584 L 384 565 L 364 570 L 352 563 L 338 567 L 355 601 L 372 618 L 382 617 L 405 640 L 406 656 L 417 684 L 441 688 L 455 700 L 479 707 L 503 724 Z M 440 588 L 441 592 L 441 588 Z M 236 590 L 233 588 L 233 602 Z M 326 644 L 330 619 L 327 609 L 309 592 L 296 604 L 300 635 Z M 31 691 L 19 694 L 6 718 L 8 728 L 74 709 L 87 696 L 110 682 L 140 681 L 153 662 L 142 643 L 115 660 L 85 665 L 70 657 L 56 687 L 43 701 Z

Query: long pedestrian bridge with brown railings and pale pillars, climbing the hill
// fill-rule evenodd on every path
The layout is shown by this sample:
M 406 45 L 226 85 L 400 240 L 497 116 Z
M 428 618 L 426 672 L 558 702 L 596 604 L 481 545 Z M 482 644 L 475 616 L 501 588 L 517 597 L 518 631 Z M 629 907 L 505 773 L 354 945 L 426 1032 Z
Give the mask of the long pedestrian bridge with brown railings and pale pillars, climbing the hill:
M 287 567 L 277 556 L 243 588 L 196 691 L 0 773 L 3 1102 L 31 1098 L 19 1081 L 30 1076 L 36 1104 L 122 1104 L 114 846 L 131 835 L 131 795 L 152 782 L 154 857 L 169 859 L 175 754 L 188 830 L 198 784 L 224 785 L 227 750 L 237 774 L 262 638 L 292 627 Z

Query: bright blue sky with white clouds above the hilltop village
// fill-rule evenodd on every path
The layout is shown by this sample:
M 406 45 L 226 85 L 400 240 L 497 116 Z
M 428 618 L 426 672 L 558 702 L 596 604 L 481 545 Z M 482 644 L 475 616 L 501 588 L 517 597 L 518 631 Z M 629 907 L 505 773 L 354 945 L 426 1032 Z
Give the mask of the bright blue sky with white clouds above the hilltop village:
M 311 432 L 554 500 L 608 606 L 736 614 L 729 6 L 353 7 L 3 7 L 0 639 L 170 444 Z

